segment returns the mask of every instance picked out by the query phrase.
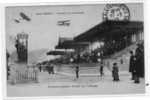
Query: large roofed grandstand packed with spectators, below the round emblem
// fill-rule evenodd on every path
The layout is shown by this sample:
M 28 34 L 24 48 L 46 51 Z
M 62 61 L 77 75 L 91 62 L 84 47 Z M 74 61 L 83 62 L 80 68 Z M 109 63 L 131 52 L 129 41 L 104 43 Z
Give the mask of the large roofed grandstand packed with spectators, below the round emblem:
M 143 22 L 104 21 L 72 40 L 59 42 L 56 49 L 74 49 L 74 59 L 80 55 L 80 62 L 97 62 L 106 59 L 131 45 L 143 41 Z M 99 54 L 99 55 L 98 55 Z M 69 56 L 69 57 L 71 57 Z

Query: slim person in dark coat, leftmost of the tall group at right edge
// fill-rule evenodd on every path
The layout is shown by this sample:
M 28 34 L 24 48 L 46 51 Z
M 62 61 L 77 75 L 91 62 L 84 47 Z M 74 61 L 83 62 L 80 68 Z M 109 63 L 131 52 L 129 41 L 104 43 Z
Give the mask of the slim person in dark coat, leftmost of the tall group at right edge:
M 136 58 L 133 54 L 133 51 L 130 51 L 130 62 L 129 62 L 129 72 L 131 73 L 131 79 L 134 80 L 134 77 L 135 77 L 135 61 L 136 61 Z

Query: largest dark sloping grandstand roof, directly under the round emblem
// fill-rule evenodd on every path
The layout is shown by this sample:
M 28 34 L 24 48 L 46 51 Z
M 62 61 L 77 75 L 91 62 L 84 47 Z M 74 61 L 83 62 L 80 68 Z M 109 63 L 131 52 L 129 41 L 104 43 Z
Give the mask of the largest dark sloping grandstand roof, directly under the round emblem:
M 143 22 L 140 21 L 105 21 L 86 32 L 76 36 L 74 42 L 94 41 L 101 38 L 119 38 L 143 31 Z

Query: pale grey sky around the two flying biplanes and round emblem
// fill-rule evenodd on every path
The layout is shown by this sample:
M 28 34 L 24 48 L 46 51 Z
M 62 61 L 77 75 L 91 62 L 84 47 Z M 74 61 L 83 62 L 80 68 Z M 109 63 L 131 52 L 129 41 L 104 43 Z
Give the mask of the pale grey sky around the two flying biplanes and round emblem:
M 143 4 L 126 4 L 130 10 L 131 21 L 143 21 Z M 28 50 L 54 49 L 59 37 L 75 37 L 101 23 L 106 4 L 91 5 L 45 5 L 45 6 L 10 6 L 6 14 L 6 47 L 9 52 L 15 50 L 14 37 L 25 32 L 29 35 Z M 21 19 L 23 12 L 31 21 Z M 63 14 L 62 14 L 63 13 Z M 69 26 L 59 26 L 58 21 L 70 20 Z

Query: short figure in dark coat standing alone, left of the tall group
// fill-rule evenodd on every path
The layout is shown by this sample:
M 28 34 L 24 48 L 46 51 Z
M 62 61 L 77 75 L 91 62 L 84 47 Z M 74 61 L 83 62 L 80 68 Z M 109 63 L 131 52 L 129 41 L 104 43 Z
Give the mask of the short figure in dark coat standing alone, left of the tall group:
M 113 69 L 112 69 L 112 77 L 113 77 L 113 81 L 119 81 L 119 69 L 117 66 L 117 63 L 113 64 Z

